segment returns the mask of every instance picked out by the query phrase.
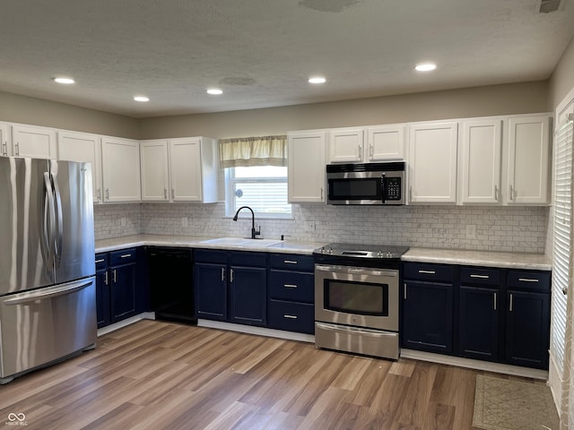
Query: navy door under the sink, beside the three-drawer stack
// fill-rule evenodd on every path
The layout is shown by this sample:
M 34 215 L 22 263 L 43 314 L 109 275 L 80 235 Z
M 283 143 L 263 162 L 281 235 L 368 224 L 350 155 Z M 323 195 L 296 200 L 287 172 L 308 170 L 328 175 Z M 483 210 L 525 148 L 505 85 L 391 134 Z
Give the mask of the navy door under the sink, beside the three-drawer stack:
M 230 322 L 265 326 L 267 271 L 264 267 L 230 266 Z

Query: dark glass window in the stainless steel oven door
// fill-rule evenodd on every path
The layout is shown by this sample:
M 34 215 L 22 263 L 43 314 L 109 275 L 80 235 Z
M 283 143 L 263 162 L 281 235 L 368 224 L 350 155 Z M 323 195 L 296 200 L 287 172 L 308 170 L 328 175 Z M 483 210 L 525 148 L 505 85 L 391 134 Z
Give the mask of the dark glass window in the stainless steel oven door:
M 388 316 L 388 285 L 326 280 L 325 308 L 350 314 Z

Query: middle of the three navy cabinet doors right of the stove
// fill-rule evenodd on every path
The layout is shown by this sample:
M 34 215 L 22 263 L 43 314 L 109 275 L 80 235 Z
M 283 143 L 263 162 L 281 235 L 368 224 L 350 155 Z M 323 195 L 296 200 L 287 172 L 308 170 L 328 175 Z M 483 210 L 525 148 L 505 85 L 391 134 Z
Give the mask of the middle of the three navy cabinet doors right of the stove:
M 458 354 L 499 359 L 499 294 L 496 288 L 461 286 L 458 290 Z

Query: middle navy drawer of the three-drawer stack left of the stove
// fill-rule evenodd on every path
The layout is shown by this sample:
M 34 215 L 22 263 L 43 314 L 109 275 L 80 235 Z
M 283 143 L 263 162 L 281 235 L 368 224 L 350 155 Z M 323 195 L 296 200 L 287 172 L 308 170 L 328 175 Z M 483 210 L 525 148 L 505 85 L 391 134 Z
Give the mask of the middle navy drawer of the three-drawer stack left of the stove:
M 269 297 L 313 303 L 315 275 L 297 271 L 270 271 Z

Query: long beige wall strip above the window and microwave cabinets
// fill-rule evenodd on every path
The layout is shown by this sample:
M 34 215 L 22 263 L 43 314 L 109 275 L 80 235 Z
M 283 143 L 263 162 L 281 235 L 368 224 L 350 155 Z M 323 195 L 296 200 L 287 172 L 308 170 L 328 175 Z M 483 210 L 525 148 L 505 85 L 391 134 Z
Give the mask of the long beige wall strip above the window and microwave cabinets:
M 548 106 L 548 82 L 524 82 L 310 105 L 145 118 L 141 120 L 141 136 L 142 139 L 258 136 L 313 128 L 527 114 L 546 112 Z

